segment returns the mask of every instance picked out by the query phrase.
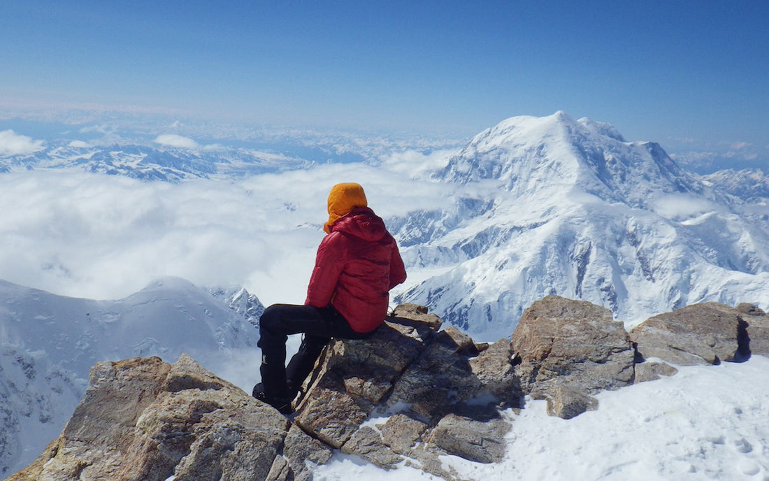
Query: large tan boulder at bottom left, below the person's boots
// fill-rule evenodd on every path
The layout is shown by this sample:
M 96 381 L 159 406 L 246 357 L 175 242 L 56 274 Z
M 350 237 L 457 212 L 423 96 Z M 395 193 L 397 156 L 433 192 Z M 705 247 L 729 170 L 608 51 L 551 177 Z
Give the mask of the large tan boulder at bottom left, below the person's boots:
M 288 425 L 189 356 L 100 362 L 62 435 L 8 480 L 265 479 Z

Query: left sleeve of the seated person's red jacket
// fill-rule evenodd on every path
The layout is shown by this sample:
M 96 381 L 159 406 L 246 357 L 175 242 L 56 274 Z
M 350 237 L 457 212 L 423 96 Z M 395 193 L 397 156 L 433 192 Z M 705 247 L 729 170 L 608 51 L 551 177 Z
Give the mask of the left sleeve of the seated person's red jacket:
M 326 307 L 331 303 L 339 275 L 344 267 L 341 260 L 341 240 L 338 232 L 331 232 L 318 246 L 315 267 L 312 269 L 307 287 L 305 306 Z

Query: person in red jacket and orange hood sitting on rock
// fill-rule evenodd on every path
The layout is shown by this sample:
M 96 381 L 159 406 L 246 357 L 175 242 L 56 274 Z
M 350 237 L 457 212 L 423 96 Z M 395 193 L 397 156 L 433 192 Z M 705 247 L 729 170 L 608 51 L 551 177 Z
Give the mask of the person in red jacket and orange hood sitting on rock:
M 406 280 L 398 245 L 368 208 L 361 185 L 331 189 L 323 229 L 305 305 L 275 304 L 259 318 L 261 382 L 253 396 L 284 414 L 331 338 L 371 336 L 387 316 L 390 289 Z M 300 332 L 301 346 L 286 367 L 286 340 Z

